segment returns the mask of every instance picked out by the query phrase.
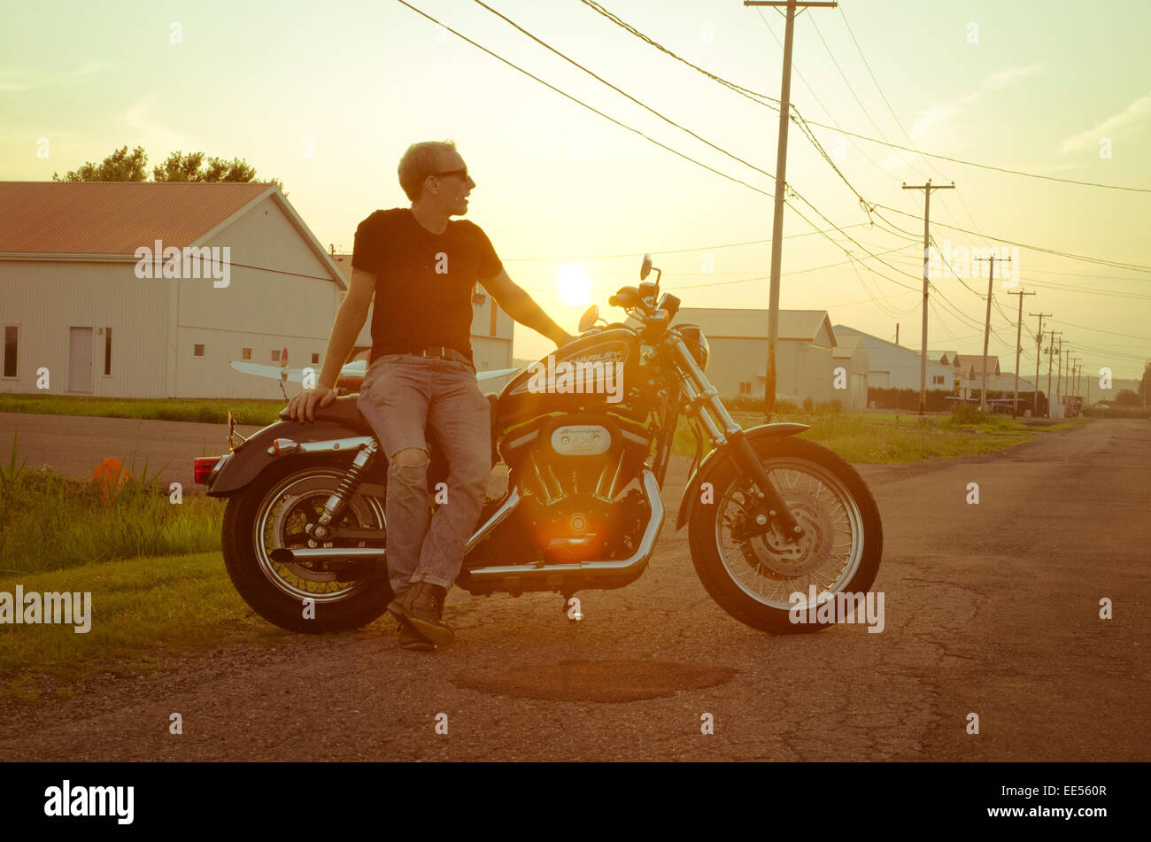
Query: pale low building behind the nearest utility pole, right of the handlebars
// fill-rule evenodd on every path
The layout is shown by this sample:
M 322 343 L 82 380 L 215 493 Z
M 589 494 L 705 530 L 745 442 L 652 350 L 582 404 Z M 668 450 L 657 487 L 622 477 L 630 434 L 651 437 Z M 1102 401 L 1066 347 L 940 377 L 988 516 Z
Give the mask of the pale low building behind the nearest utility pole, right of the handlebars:
M 698 324 L 708 338 L 708 380 L 723 397 L 762 397 L 768 359 L 768 311 L 683 307 L 676 324 Z M 814 401 L 841 398 L 832 388 L 836 335 L 822 309 L 779 311 L 776 395 Z M 846 401 L 845 401 L 846 403 Z

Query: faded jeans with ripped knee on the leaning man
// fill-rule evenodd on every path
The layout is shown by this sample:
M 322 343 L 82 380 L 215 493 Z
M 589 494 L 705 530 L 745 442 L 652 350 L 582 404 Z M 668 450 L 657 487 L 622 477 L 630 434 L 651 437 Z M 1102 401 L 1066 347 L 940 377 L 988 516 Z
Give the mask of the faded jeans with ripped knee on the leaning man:
M 418 582 L 451 588 L 464 564 L 491 473 L 490 414 L 468 362 L 384 354 L 367 370 L 357 403 L 388 458 L 388 575 L 395 592 Z M 427 436 L 447 458 L 447 502 L 432 513 Z M 397 452 L 425 452 L 401 465 Z M 441 496 L 441 500 L 444 499 Z

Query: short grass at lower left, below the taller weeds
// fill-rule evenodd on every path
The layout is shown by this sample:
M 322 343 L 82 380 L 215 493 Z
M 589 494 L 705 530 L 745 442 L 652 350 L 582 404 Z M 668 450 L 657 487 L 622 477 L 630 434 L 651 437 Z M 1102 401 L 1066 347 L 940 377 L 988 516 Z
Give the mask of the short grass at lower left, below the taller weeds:
M 229 642 L 274 643 L 288 635 L 244 604 L 220 554 L 135 558 L 0 577 L 0 591 L 91 592 L 91 629 L 0 625 L 0 696 L 28 702 L 75 695 L 98 673 L 177 668 L 183 650 Z

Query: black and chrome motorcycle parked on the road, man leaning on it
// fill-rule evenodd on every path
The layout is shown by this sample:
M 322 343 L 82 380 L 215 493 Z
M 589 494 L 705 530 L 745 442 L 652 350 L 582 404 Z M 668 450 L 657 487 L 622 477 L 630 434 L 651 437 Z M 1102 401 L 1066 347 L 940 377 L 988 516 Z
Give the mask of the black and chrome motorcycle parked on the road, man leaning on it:
M 651 269 L 646 255 L 641 282 Z M 813 585 L 816 603 L 870 588 L 883 552 L 875 500 L 851 465 L 792 437 L 806 426 L 745 430 L 732 420 L 704 375 L 707 338 L 672 324 L 680 303 L 660 294 L 655 271 L 655 283 L 609 299 L 627 322 L 608 324 L 593 306 L 578 338 L 554 352 L 557 369 L 615 366 L 616 395 L 540 390 L 529 368 L 488 396 L 493 465 L 506 466 L 508 487 L 486 499 L 456 584 L 475 595 L 557 591 L 566 605 L 576 591 L 634 582 L 663 527 L 664 475 L 685 419 L 695 456 L 676 528 L 688 528 L 703 587 L 754 628 L 818 629 L 826 623 L 790 614 L 810 605 Z M 196 460 L 197 482 L 228 498 L 223 557 L 236 589 L 289 630 L 358 628 L 392 596 L 387 459 L 356 397 L 317 408 L 314 423 L 284 409 L 227 456 Z M 434 507 L 448 470 L 434 437 L 429 449 Z

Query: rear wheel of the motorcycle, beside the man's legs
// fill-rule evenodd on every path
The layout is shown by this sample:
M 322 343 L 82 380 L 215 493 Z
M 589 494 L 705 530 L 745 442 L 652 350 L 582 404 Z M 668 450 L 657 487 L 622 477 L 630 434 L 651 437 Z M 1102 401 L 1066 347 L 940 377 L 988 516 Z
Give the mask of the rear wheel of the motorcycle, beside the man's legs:
M 328 497 L 346 470 L 343 464 L 312 459 L 279 462 L 228 500 L 223 519 L 223 558 L 236 590 L 266 620 L 289 632 L 345 632 L 382 614 L 391 600 L 387 566 L 365 573 L 348 562 L 283 562 L 274 550 L 365 546 L 367 542 L 317 541 Z M 383 545 L 383 502 L 356 495 L 337 528 L 376 529 Z

